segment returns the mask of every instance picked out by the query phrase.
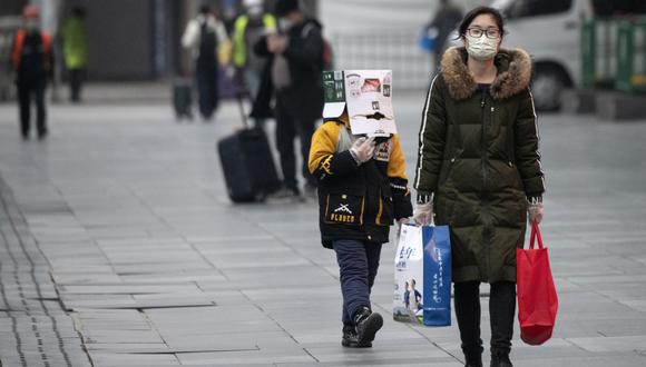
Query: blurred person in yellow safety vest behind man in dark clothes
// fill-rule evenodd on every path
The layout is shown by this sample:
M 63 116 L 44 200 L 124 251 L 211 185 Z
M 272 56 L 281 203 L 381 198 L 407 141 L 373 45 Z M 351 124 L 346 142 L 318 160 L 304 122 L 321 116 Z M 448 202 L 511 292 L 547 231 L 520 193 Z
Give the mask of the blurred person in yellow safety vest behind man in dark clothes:
M 245 13 L 237 17 L 233 31 L 232 62 L 237 80 L 256 98 L 266 59 L 253 52 L 254 44 L 270 32 L 276 31 L 276 19 L 264 11 L 263 0 L 244 0 Z

